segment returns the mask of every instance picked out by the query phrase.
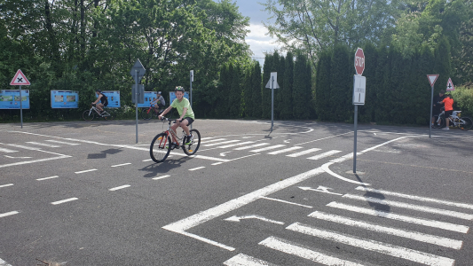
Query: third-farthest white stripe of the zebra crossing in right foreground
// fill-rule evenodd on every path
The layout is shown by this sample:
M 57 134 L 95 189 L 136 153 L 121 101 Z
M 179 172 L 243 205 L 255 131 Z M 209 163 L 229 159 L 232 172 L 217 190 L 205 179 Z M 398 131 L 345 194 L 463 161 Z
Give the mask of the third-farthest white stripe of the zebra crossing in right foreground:
M 388 218 L 388 219 L 397 220 L 397 221 L 406 222 L 406 223 L 415 223 L 415 224 L 420 224 L 423 226 L 440 228 L 447 231 L 457 231 L 457 232 L 461 232 L 465 234 L 469 231 L 469 227 L 465 225 L 439 222 L 435 220 L 416 218 L 416 217 L 411 217 L 407 215 L 397 215 L 397 214 L 387 213 L 380 210 L 374 210 L 374 209 L 365 208 L 365 207 L 356 207 L 352 205 L 346 205 L 346 204 L 338 203 L 335 201 L 328 203 L 327 206 L 336 207 L 339 209 L 344 209 L 344 210 L 348 210 L 348 211 L 356 212 L 360 214 L 365 214 L 365 215 L 373 215 L 373 216 L 378 216 L 382 218 Z

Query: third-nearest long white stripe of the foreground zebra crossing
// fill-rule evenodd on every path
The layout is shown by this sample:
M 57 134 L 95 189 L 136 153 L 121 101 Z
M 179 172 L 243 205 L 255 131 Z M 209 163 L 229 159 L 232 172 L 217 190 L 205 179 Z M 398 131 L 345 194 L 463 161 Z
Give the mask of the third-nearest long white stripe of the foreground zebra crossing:
M 343 243 L 349 246 L 360 247 L 369 251 L 387 254 L 393 257 L 405 259 L 411 262 L 419 262 L 425 265 L 435 266 L 453 266 L 455 260 L 438 256 L 436 254 L 428 254 L 414 249 L 409 249 L 403 246 L 395 246 L 371 239 L 362 239 L 353 237 L 351 235 L 342 234 L 335 231 L 320 230 L 303 223 L 293 223 L 286 229 L 290 231 L 300 232 L 306 235 L 317 237 L 320 239 L 328 239 L 338 243 Z

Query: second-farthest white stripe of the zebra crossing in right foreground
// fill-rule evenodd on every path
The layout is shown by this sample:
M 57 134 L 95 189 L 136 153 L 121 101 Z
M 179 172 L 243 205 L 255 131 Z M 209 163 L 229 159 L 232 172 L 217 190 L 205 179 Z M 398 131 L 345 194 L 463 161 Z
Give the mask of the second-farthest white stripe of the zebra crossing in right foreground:
M 424 207 L 424 206 L 419 206 L 419 205 L 414 205 L 414 204 L 408 204 L 408 203 L 398 202 L 394 200 L 382 200 L 382 199 L 377 199 L 377 198 L 372 198 L 372 197 L 363 197 L 363 196 L 357 196 L 357 195 L 351 195 L 351 194 L 344 194 L 343 198 L 347 198 L 351 200 L 363 200 L 363 201 L 368 201 L 368 202 L 382 204 L 382 205 L 389 205 L 392 207 L 404 207 L 407 209 L 413 209 L 420 212 L 451 216 L 451 217 L 460 218 L 464 220 L 473 220 L 473 215 L 469 215 L 469 214 L 465 214 L 461 212 L 455 212 L 455 211 L 446 210 L 446 209 L 435 208 L 435 207 Z

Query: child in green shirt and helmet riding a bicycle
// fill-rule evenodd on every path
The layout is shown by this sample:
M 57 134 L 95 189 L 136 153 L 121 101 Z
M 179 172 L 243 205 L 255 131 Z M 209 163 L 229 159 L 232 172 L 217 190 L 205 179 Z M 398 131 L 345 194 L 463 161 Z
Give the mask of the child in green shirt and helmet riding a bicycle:
M 158 116 L 158 118 L 162 120 L 164 114 L 169 113 L 172 108 L 176 108 L 177 113 L 179 113 L 179 118 L 177 119 L 176 123 L 171 126 L 171 129 L 174 130 L 174 132 L 176 132 L 177 127 L 184 129 L 185 135 L 187 137 L 184 137 L 185 139 L 183 139 L 182 142 L 184 145 L 190 145 L 193 142 L 193 136 L 189 132 L 189 125 L 191 125 L 195 119 L 193 115 L 193 108 L 191 107 L 189 100 L 184 98 L 184 88 L 177 86 L 174 92 L 176 92 L 176 98 L 174 101 L 172 101 L 170 106 Z M 174 149 L 175 147 L 176 141 L 173 136 L 171 149 Z

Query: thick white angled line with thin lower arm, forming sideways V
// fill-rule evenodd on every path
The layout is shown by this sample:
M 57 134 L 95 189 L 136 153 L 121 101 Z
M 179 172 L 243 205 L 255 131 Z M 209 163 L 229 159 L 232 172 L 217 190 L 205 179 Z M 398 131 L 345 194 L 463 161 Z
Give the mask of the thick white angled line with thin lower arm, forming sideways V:
M 291 185 L 303 182 L 304 180 L 307 180 L 311 178 L 312 176 L 317 176 L 319 174 L 323 173 L 323 170 L 321 168 L 315 168 L 310 171 L 307 171 L 305 173 L 299 174 L 297 176 L 292 176 L 287 179 L 281 180 L 280 182 L 277 182 L 275 184 L 270 184 L 265 186 L 264 188 L 261 188 L 255 192 L 250 192 L 246 195 L 243 195 L 239 198 L 229 200 L 223 204 L 220 204 L 216 207 L 211 207 L 205 211 L 201 211 L 198 214 L 191 215 L 189 217 L 186 217 L 182 220 L 179 220 L 175 223 L 169 223 L 168 225 L 163 226 L 162 228 L 168 231 L 174 231 L 179 234 L 188 236 L 193 239 L 199 239 L 201 241 L 204 241 L 206 243 L 209 243 L 210 245 L 214 246 L 220 246 L 222 248 L 225 248 L 226 250 L 233 251 L 234 247 L 232 246 L 226 246 L 224 244 L 218 243 L 216 241 L 210 240 L 210 239 L 205 239 L 202 238 L 198 235 L 194 235 L 191 233 L 186 232 L 186 230 L 193 228 L 194 226 L 197 226 L 201 223 L 205 223 L 209 220 L 212 220 L 220 215 L 225 215 L 228 212 L 233 211 L 234 209 L 237 209 L 239 207 L 245 206 L 250 202 L 253 202 L 255 200 L 260 199 L 262 196 L 267 196 L 269 194 L 272 194 L 274 192 L 278 192 L 282 189 L 285 189 Z

